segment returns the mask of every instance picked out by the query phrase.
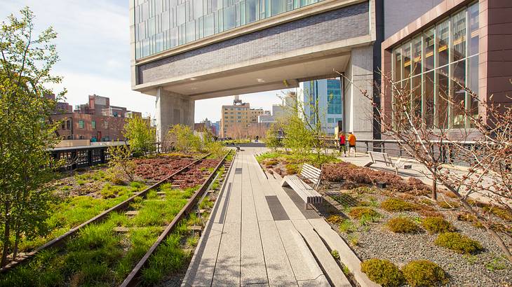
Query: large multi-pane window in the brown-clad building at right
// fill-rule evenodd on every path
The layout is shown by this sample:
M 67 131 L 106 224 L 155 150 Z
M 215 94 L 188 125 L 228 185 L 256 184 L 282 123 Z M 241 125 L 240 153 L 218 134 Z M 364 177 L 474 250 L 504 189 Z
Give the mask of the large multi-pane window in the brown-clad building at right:
M 393 81 L 428 127 L 470 127 L 464 112 L 478 116 L 478 102 L 464 88 L 478 93 L 478 36 L 477 2 L 393 49 Z

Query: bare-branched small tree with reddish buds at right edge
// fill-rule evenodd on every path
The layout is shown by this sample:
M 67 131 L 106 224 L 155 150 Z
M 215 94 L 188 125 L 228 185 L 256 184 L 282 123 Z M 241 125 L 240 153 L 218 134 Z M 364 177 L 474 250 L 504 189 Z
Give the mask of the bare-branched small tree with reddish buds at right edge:
M 377 109 L 383 133 L 395 139 L 405 153 L 426 169 L 424 176 L 433 181 L 433 200 L 437 200 L 435 187 L 439 182 L 459 200 L 465 211 L 477 218 L 512 261 L 511 251 L 494 230 L 492 218 L 470 204 L 470 196 L 478 195 L 492 200 L 494 206 L 506 212 L 512 211 L 509 205 L 512 201 L 512 106 L 494 103 L 492 96 L 489 100 L 480 99 L 457 79 L 450 78 L 454 88 L 442 92 L 443 87 L 438 86 L 437 104 L 426 102 L 422 111 L 421 86 L 401 87 L 386 74 L 382 74 L 382 79 L 384 87 L 389 87 L 382 90 L 382 97 L 393 99 L 390 110 Z M 389 90 L 393 91 L 392 95 Z M 372 95 L 360 91 L 377 106 Z M 467 93 L 470 103 L 476 103 L 480 112 L 469 109 L 465 100 L 457 99 L 455 91 Z M 450 117 L 450 113 L 457 114 L 457 118 Z M 447 168 L 452 162 L 468 169 Z

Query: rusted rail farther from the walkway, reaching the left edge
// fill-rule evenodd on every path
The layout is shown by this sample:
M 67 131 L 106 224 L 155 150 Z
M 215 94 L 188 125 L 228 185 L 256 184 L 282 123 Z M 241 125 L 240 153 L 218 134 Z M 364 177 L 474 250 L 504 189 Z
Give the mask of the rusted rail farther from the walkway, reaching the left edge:
M 208 153 L 208 155 L 210 155 L 210 153 Z M 86 227 L 87 225 L 90 225 L 91 223 L 97 223 L 97 222 L 100 222 L 103 219 L 105 219 L 109 215 L 110 212 L 126 209 L 129 206 L 130 202 L 133 202 L 133 200 L 135 200 L 136 197 L 144 197 L 149 192 L 149 190 L 158 188 L 159 186 L 161 186 L 162 183 L 166 183 L 166 181 L 169 181 L 170 179 L 172 179 L 173 176 L 176 176 L 177 174 L 180 174 L 182 172 L 186 172 L 191 166 L 196 165 L 198 162 L 201 162 L 201 160 L 204 160 L 205 158 L 207 158 L 208 155 L 204 155 L 202 158 L 199 158 L 198 160 L 194 160 L 194 162 L 191 162 L 189 165 L 183 167 L 182 169 L 178 170 L 177 172 L 171 174 L 170 176 L 167 176 L 165 179 L 162 179 L 161 181 L 155 183 L 154 185 L 149 186 L 148 188 L 142 190 L 140 193 L 137 193 L 137 195 L 133 195 L 132 197 L 117 204 L 116 206 L 111 207 L 111 208 L 107 209 L 106 211 L 103 211 L 101 214 L 98 214 L 97 216 L 90 218 L 88 221 L 82 223 L 81 225 L 76 226 L 76 228 L 70 229 L 65 234 L 60 235 L 59 237 L 55 237 L 54 239 L 46 242 L 46 244 L 39 246 L 34 251 L 27 253 L 23 258 L 20 258 L 20 260 L 13 261 L 13 262 L 9 263 L 8 265 L 2 267 L 0 269 L 0 274 L 11 270 L 13 267 L 18 266 L 23 262 L 26 262 L 27 260 L 33 258 L 34 255 L 36 255 L 37 253 L 39 253 L 45 249 L 63 244 L 65 242 L 65 240 L 67 240 L 67 239 L 69 239 L 69 237 L 72 237 L 73 235 L 75 235 L 76 232 L 78 232 L 82 228 Z

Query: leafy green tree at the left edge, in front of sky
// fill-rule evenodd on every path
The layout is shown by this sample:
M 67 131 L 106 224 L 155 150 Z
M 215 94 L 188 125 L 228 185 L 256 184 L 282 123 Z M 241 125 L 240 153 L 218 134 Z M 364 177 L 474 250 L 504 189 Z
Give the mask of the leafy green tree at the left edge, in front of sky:
M 20 10 L 8 16 L 0 31 L 0 221 L 3 232 L 1 265 L 8 253 L 18 253 L 22 237 L 46 232 L 47 183 L 55 162 L 48 148 L 58 141 L 60 123 L 50 121 L 55 101 L 48 85 L 61 78 L 50 75 L 58 55 L 50 43 L 57 34 L 50 27 L 34 35 L 34 14 Z M 64 96 L 65 90 L 57 99 Z M 12 235 L 14 233 L 14 236 Z M 14 241 L 14 242 L 12 242 Z

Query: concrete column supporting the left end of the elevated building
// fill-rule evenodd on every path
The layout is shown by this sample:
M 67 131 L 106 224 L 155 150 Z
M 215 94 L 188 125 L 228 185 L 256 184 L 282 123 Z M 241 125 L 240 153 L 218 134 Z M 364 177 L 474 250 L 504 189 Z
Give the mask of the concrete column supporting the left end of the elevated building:
M 195 101 L 181 94 L 163 90 L 156 91 L 156 136 L 159 141 L 171 125 L 183 124 L 194 128 Z

